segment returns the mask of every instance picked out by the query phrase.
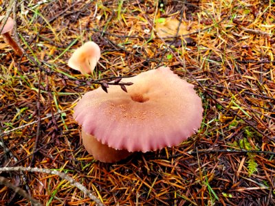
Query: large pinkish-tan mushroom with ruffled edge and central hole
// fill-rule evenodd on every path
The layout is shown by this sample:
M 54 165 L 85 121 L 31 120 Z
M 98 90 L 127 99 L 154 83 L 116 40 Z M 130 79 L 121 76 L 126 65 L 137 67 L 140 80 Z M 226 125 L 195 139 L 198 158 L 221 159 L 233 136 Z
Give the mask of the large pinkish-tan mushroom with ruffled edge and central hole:
M 83 144 L 95 159 L 114 162 L 131 152 L 177 146 L 200 127 L 201 98 L 168 67 L 127 80 L 133 82 L 128 93 L 109 85 L 108 93 L 85 93 L 74 108 Z M 115 160 L 108 159 L 109 152 Z

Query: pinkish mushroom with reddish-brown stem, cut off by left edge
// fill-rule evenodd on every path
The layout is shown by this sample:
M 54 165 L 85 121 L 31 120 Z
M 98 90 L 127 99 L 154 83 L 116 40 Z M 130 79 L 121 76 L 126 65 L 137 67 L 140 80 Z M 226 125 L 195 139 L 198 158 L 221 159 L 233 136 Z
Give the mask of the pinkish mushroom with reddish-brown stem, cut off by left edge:
M 2 30 L 3 28 L 3 30 L 1 31 L 1 35 L 3 36 L 5 43 L 10 45 L 12 49 L 14 49 L 15 54 L 17 54 L 18 56 L 22 56 L 23 52 L 21 51 L 19 45 L 17 45 L 17 43 L 12 39 L 12 36 L 10 36 L 10 32 L 12 32 L 14 26 L 14 21 L 12 18 L 8 17 L 7 22 L 5 23 L 5 25 L 3 25 L 2 20 L 4 18 L 5 16 L 0 16 L 0 30 Z

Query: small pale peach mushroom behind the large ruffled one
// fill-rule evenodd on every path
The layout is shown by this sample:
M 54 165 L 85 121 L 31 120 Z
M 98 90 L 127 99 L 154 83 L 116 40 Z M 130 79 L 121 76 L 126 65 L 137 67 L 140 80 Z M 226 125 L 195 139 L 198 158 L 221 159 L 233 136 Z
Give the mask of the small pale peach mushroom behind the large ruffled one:
M 69 58 L 68 65 L 81 73 L 92 73 L 100 59 L 100 47 L 93 41 L 88 41 Z

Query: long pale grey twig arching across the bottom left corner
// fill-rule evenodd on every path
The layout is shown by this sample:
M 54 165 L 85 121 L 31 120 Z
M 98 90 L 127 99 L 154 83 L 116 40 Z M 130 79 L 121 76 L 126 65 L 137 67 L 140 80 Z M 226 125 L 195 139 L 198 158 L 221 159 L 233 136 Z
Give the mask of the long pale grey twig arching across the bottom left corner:
M 54 175 L 60 176 L 61 179 L 65 179 L 69 181 L 69 183 L 71 183 L 72 185 L 77 187 L 79 190 L 81 190 L 85 195 L 89 196 L 89 198 L 91 198 L 91 200 L 96 202 L 99 206 L 104 206 L 104 204 L 100 201 L 100 199 L 94 196 L 94 194 L 92 194 L 91 190 L 88 190 L 84 185 L 78 183 L 77 181 L 72 179 L 72 177 L 67 176 L 67 174 L 63 172 L 58 172 L 56 170 L 49 170 L 44 168 L 24 168 L 24 167 L 0 168 L 0 172 L 11 172 L 11 171 L 41 172 L 41 173 L 54 174 Z

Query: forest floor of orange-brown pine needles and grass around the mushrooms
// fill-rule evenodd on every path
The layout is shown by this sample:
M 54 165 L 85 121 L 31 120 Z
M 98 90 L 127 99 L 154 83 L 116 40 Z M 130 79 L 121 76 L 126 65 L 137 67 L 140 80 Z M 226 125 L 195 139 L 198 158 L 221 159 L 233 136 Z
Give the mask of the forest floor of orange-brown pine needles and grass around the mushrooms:
M 0 2 L 24 50 L 17 56 L 0 38 L 1 168 L 65 172 L 105 205 L 275 205 L 273 0 Z M 165 38 L 156 25 L 186 35 Z M 101 49 L 91 76 L 67 66 L 87 41 Z M 199 131 L 173 148 L 95 161 L 73 117 L 78 100 L 100 87 L 93 80 L 162 65 L 195 85 Z M 55 174 L 1 176 L 0 205 L 30 205 L 30 196 L 42 205 L 96 204 Z

